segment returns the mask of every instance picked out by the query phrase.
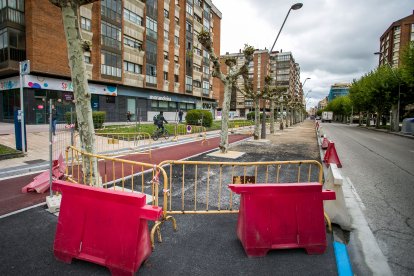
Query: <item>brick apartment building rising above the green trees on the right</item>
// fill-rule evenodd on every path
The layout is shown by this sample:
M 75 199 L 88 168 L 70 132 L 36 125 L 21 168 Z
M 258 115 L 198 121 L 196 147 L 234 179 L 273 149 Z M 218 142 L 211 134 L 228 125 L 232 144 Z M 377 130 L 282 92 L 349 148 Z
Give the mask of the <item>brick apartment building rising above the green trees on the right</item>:
M 388 63 L 397 68 L 400 65 L 400 51 L 414 42 L 413 14 L 393 22 L 380 38 L 379 65 Z

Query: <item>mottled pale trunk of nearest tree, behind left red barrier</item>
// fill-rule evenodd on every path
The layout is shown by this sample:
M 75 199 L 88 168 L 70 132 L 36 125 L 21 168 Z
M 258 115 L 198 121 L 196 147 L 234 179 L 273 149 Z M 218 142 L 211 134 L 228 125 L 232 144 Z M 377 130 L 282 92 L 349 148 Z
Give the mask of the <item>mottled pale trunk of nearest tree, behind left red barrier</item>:
M 95 153 L 95 129 L 92 120 L 91 93 L 86 78 L 83 45 L 79 29 L 79 8 L 98 0 L 49 0 L 62 10 L 63 29 L 68 48 L 68 60 L 71 71 L 75 110 L 81 148 Z M 83 156 L 83 173 L 88 184 L 99 185 L 96 158 Z

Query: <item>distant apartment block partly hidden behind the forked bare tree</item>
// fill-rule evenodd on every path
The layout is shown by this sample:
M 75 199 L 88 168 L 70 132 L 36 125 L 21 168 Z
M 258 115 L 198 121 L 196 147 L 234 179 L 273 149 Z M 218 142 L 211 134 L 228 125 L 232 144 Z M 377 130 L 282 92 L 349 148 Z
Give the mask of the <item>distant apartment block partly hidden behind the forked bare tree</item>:
M 244 64 L 244 55 L 242 50 L 239 53 L 222 55 L 220 57 L 222 72 L 227 73 L 228 67 L 225 65 L 227 58 L 235 58 L 237 66 Z M 286 93 L 292 97 L 303 98 L 302 85 L 300 83 L 300 67 L 295 62 L 291 52 L 272 52 L 268 50 L 256 50 L 254 52 L 253 61 L 249 64 L 249 77 L 253 82 L 253 91 L 258 92 L 264 88 L 265 77 L 270 76 L 273 80 L 271 85 L 277 85 L 286 89 Z M 230 110 L 236 117 L 245 117 L 249 111 L 253 110 L 253 100 L 246 98 L 240 91 L 244 89 L 242 77 L 237 80 L 239 90 L 234 89 L 231 95 Z M 222 106 L 224 86 L 219 86 L 219 108 Z M 260 101 L 260 108 L 265 106 L 269 108 L 268 101 Z

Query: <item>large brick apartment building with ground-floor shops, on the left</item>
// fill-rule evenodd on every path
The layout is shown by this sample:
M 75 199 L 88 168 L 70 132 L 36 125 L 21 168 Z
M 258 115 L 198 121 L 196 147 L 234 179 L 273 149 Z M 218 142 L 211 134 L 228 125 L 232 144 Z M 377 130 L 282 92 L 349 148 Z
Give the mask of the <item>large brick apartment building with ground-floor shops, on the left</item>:
M 49 99 L 63 119 L 73 107 L 62 14 L 48 0 L 0 1 L 0 121 L 20 107 L 19 61 L 26 122 L 46 123 Z M 82 6 L 79 22 L 93 110 L 107 121 L 152 120 L 164 111 L 216 106 L 209 56 L 197 41 L 205 29 L 220 52 L 221 13 L 211 0 L 102 0 Z

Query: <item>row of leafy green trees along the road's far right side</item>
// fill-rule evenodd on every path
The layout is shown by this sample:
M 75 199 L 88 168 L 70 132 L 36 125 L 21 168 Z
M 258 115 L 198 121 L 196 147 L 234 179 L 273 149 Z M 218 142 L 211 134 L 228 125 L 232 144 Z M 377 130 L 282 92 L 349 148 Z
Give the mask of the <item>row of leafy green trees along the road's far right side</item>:
M 397 117 L 398 99 L 400 114 Z M 391 129 L 399 131 L 400 120 L 414 116 L 412 111 L 404 111 L 405 106 L 413 103 L 414 43 L 411 42 L 401 52 L 399 68 L 391 69 L 386 64 L 354 80 L 349 95 L 335 98 L 323 111 L 333 111 L 336 119 L 341 121 L 346 121 L 351 114 L 358 114 L 359 123 L 366 120 L 368 126 L 371 118 L 375 117 L 375 126 L 378 128 L 391 118 Z

